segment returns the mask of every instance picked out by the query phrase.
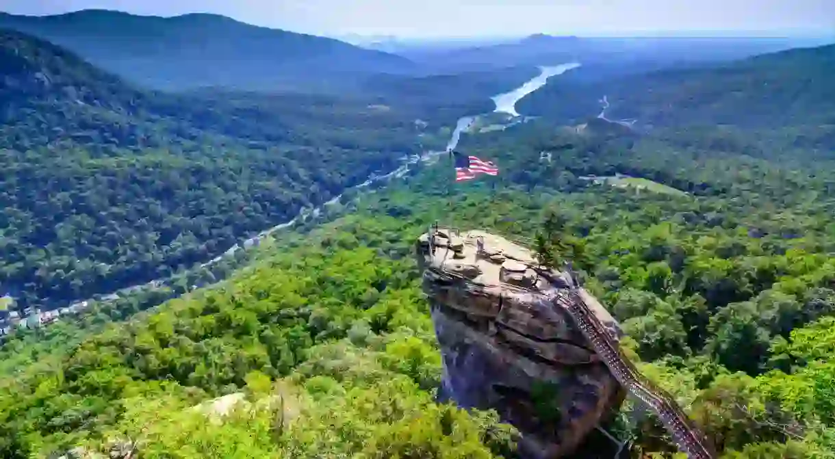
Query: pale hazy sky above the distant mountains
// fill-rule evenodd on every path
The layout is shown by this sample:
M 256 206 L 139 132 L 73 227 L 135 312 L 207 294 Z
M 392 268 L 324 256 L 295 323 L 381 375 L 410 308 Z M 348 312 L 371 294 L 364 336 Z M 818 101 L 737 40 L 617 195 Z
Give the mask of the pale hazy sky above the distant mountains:
M 0 0 L 0 11 L 16 14 L 86 8 L 159 16 L 217 13 L 329 36 L 835 33 L 835 0 Z

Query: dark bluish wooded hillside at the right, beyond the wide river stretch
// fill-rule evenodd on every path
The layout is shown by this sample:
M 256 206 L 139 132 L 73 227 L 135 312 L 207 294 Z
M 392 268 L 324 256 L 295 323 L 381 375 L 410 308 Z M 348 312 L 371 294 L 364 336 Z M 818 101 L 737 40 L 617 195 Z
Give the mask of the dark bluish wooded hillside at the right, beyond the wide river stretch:
M 520 101 L 525 113 L 574 118 L 600 109 L 641 125 L 731 124 L 782 128 L 835 124 L 835 45 L 798 48 L 709 68 L 667 70 L 595 83 L 559 80 Z M 557 103 L 559 101 L 559 103 Z M 831 132 L 831 131 L 830 131 Z

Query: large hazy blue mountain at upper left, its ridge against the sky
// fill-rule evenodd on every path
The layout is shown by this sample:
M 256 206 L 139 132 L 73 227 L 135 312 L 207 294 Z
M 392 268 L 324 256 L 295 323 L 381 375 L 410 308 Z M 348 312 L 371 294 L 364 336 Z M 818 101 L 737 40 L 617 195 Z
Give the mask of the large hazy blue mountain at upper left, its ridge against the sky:
M 413 68 L 406 58 L 392 54 L 211 14 L 158 18 L 104 10 L 43 17 L 0 13 L 0 28 L 44 38 L 152 88 L 332 90 L 351 78 Z

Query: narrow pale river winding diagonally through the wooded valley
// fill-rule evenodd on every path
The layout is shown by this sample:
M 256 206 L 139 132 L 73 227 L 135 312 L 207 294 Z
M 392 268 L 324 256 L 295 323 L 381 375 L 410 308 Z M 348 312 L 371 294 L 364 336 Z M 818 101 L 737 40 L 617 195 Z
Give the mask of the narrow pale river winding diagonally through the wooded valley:
M 551 77 L 554 77 L 556 75 L 560 75 L 562 73 L 565 73 L 572 68 L 578 68 L 579 65 L 580 65 L 579 63 L 564 63 L 562 65 L 557 65 L 557 66 L 539 67 L 540 73 L 537 77 L 532 78 L 528 82 L 524 83 L 522 86 L 519 86 L 519 88 L 516 88 L 513 91 L 510 91 L 509 93 L 501 93 L 501 94 L 493 96 L 493 102 L 496 103 L 496 109 L 494 110 L 494 112 L 495 113 L 509 113 L 510 115 L 512 115 L 514 117 L 518 117 L 519 113 L 516 112 L 516 103 L 519 102 L 519 100 L 521 98 L 524 98 L 529 93 L 533 93 L 537 89 L 542 88 L 545 85 L 545 83 L 548 82 L 548 78 L 551 78 Z M 397 179 L 399 177 L 402 177 L 402 176 L 404 176 L 408 173 L 410 166 L 413 166 L 414 164 L 417 164 L 418 162 L 433 163 L 434 161 L 438 160 L 438 158 L 441 155 L 448 154 L 448 152 L 450 150 L 456 149 L 458 147 L 458 142 L 460 142 L 460 140 L 461 140 L 461 135 L 466 133 L 468 131 L 468 129 L 471 126 L 473 126 L 473 123 L 475 123 L 476 119 L 478 119 L 478 116 L 479 115 L 470 115 L 470 116 L 464 116 L 464 117 L 458 119 L 458 123 L 455 125 L 455 129 L 453 130 L 453 134 L 449 138 L 449 141 L 447 143 L 447 148 L 445 150 L 443 150 L 443 151 L 428 151 L 428 152 L 425 152 L 421 156 L 415 155 L 415 156 L 412 156 L 411 158 L 404 157 L 404 158 L 402 158 L 403 164 L 400 167 L 398 167 L 397 169 L 392 170 L 388 174 L 372 175 L 372 177 L 367 179 L 365 182 L 362 182 L 362 184 L 358 184 L 357 186 L 351 188 L 351 190 L 367 188 L 371 184 L 376 184 L 378 182 L 388 181 L 390 179 Z M 512 124 L 514 124 L 514 123 L 512 123 Z M 291 219 L 290 221 L 287 221 L 287 222 L 282 223 L 282 224 L 276 224 L 276 226 L 273 226 L 270 229 L 265 229 L 265 230 L 261 231 L 261 233 L 259 233 L 258 235 L 253 236 L 253 237 L 251 237 L 247 240 L 244 240 L 240 244 L 235 244 L 235 245 L 231 246 L 223 254 L 216 256 L 212 260 L 209 260 L 209 261 L 203 263 L 200 266 L 201 267 L 206 267 L 206 266 L 214 265 L 215 263 L 219 262 L 220 260 L 223 260 L 227 256 L 235 255 L 235 252 L 237 252 L 238 250 L 249 248 L 252 245 L 257 245 L 261 240 L 263 240 L 267 236 L 271 235 L 272 233 L 275 233 L 276 231 L 279 231 L 281 229 L 290 228 L 291 226 L 298 223 L 299 221 L 303 221 L 308 216 L 316 217 L 319 214 L 321 214 L 322 210 L 326 209 L 326 207 L 328 207 L 330 205 L 333 205 L 333 204 L 337 204 L 337 201 L 339 201 L 339 199 L 341 199 L 341 198 L 342 198 L 342 194 L 339 194 L 338 196 L 335 196 L 334 198 L 328 200 L 324 204 L 319 205 L 318 207 L 303 208 L 299 211 L 298 214 L 296 214 L 296 217 Z M 104 295 L 104 298 L 115 299 L 119 296 L 118 295 L 119 293 L 127 293 L 130 290 L 136 290 L 136 289 L 142 288 L 144 286 L 154 286 L 154 285 L 164 284 L 164 281 L 165 280 L 151 280 L 150 282 L 148 282 L 146 284 L 134 285 L 134 286 L 131 286 L 131 287 L 125 287 L 123 289 L 119 289 L 117 292 L 111 293 L 109 295 Z M 87 301 L 90 301 L 90 300 L 87 300 Z M 81 304 L 81 303 L 86 303 L 86 301 L 78 301 L 75 304 Z

